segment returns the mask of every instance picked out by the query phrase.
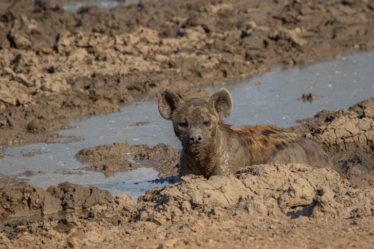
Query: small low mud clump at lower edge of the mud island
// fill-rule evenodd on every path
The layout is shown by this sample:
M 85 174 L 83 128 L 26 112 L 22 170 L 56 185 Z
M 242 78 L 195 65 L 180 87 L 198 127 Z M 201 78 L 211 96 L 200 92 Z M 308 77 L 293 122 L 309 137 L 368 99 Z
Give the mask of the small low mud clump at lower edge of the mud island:
M 105 175 L 112 175 L 116 172 L 128 172 L 140 168 L 141 165 L 131 161 L 109 161 L 105 163 L 97 163 L 84 167 L 84 170 L 100 171 Z

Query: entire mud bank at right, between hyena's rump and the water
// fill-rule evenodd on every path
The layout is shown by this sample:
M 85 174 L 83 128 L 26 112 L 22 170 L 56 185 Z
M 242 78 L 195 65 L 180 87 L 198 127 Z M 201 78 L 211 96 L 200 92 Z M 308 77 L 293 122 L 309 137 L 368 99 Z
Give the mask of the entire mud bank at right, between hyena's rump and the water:
M 359 187 L 374 185 L 374 98 L 348 109 L 322 110 L 288 128 L 317 142 L 336 163 L 336 169 Z

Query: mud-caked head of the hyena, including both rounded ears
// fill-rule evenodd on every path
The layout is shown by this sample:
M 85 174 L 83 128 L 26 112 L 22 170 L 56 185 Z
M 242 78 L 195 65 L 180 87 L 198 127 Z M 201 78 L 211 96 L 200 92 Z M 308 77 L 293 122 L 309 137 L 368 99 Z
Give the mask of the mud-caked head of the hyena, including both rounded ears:
M 181 101 L 177 94 L 164 89 L 158 99 L 158 110 L 163 118 L 173 122 L 175 135 L 183 148 L 196 151 L 214 141 L 219 122 L 232 111 L 232 99 L 226 89 L 220 89 L 209 100 Z

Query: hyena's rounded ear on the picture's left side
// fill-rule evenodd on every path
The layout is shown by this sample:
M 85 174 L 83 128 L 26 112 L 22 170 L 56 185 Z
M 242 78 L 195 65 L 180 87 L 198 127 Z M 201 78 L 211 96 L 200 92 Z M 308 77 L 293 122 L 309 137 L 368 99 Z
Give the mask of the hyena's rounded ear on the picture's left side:
M 166 88 L 158 97 L 158 111 L 164 119 L 170 120 L 171 114 L 180 103 L 179 96 Z

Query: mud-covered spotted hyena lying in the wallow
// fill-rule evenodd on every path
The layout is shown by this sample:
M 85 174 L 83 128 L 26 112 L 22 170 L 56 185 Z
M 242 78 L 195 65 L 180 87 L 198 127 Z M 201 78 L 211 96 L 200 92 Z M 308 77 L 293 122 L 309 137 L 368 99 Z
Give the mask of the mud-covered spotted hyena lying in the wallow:
M 223 122 L 232 111 L 232 98 L 220 89 L 209 100 L 179 96 L 164 89 L 158 99 L 161 116 L 173 122 L 182 142 L 179 177 L 205 178 L 239 167 L 266 163 L 305 163 L 312 167 L 332 167 L 325 151 L 315 142 L 274 126 L 231 128 Z

